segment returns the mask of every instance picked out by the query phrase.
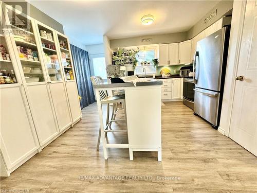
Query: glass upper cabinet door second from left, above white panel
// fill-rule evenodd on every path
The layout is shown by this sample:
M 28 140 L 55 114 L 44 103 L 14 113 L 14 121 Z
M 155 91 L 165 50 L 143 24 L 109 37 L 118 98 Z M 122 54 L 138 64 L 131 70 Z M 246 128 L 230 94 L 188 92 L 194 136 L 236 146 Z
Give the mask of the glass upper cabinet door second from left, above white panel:
M 15 14 L 8 8 L 6 11 L 6 16 L 9 19 L 7 24 L 12 29 L 16 51 L 22 64 L 26 82 L 45 81 L 32 21 L 25 14 Z

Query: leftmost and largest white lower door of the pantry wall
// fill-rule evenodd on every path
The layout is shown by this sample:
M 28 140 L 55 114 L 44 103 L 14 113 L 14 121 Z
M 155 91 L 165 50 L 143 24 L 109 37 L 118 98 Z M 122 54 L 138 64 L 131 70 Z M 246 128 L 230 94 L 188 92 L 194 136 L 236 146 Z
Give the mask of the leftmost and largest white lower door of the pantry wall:
M 1 87 L 1 166 L 9 176 L 38 152 L 39 143 L 24 88 Z M 6 174 L 3 174 L 6 175 Z

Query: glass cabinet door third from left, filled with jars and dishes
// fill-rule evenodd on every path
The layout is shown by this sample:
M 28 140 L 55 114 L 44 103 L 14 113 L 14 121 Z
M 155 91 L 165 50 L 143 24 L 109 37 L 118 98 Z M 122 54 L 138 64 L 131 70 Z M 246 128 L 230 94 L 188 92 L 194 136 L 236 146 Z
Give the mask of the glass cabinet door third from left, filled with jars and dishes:
M 36 23 L 41 41 L 41 48 L 44 52 L 44 59 L 47 67 L 47 73 L 50 81 L 62 80 L 62 69 L 59 64 L 59 58 L 56 48 L 56 37 L 53 36 L 53 30 L 44 24 Z

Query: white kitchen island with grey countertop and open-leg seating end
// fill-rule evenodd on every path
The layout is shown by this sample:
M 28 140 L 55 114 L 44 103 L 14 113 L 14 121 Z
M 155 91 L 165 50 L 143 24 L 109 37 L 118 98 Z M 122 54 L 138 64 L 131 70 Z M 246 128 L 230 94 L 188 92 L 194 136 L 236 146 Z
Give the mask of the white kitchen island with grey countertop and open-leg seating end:
M 128 148 L 130 160 L 133 151 L 158 151 L 161 161 L 161 85 L 162 81 L 151 80 L 133 83 L 94 84 L 99 112 L 104 159 L 108 159 L 107 148 Z M 98 91 L 124 90 L 127 118 L 128 144 L 108 144 L 104 135 L 101 99 Z M 104 140 L 103 140 L 104 139 Z

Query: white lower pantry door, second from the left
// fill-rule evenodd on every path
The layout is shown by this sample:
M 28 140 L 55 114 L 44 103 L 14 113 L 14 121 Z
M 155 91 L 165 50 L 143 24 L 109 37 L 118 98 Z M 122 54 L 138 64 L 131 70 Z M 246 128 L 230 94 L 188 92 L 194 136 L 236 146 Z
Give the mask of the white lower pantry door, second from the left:
M 49 86 L 47 83 L 28 85 L 26 93 L 39 143 L 44 147 L 59 133 Z

